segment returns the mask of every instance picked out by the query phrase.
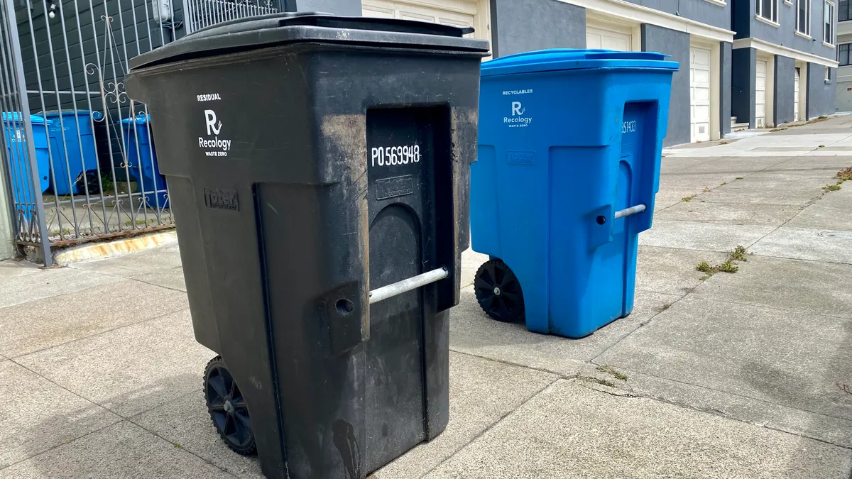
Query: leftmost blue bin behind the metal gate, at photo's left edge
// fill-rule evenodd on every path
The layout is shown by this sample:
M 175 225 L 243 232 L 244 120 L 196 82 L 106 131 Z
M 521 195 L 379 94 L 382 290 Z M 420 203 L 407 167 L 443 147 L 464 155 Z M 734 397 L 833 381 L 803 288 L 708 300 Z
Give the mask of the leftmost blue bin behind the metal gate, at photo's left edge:
M 12 182 L 15 203 L 32 203 L 32 171 L 24 132 L 24 117 L 18 112 L 3 112 L 3 131 L 6 136 L 7 160 L 10 163 L 9 177 Z M 32 124 L 33 147 L 36 150 L 38 183 L 36 194 L 43 193 L 50 184 L 50 159 L 48 153 L 49 120 L 38 115 L 30 115 Z

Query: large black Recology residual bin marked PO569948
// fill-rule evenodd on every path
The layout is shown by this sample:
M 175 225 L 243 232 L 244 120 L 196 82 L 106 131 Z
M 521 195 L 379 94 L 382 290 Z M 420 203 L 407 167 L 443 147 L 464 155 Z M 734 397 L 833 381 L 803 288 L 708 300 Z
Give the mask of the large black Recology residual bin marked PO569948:
M 267 476 L 360 479 L 446 427 L 488 49 L 469 32 L 280 14 L 130 62 L 220 355 L 210 415 Z

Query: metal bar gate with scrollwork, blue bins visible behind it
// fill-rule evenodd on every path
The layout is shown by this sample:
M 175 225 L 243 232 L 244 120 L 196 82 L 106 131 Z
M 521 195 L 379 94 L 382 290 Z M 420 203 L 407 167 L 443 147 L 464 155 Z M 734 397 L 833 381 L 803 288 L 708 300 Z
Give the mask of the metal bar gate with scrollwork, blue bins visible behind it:
M 172 228 L 147 107 L 128 61 L 271 0 L 3 0 L 0 173 L 15 241 L 50 248 Z M 165 126 L 167 128 L 168 126 Z

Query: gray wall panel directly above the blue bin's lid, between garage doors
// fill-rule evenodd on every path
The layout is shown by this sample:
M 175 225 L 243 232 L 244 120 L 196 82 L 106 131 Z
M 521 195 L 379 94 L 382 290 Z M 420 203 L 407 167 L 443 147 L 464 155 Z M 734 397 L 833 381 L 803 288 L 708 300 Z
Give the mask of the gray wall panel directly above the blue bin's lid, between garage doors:
M 491 27 L 494 58 L 585 48 L 585 9 L 557 0 L 491 0 Z

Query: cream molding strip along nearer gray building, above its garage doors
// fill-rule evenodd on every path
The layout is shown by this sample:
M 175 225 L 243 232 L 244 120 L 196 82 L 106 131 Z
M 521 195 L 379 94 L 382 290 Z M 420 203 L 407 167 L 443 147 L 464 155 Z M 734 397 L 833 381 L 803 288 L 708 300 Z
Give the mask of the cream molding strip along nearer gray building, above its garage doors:
M 655 9 L 649 9 L 636 3 L 625 2 L 625 0 L 558 0 L 561 3 L 570 3 L 596 14 L 610 18 L 628 20 L 632 24 L 649 23 L 662 26 L 676 32 L 687 32 L 700 38 L 709 38 L 717 42 L 734 42 L 734 32 L 707 25 L 688 18 L 667 14 Z

